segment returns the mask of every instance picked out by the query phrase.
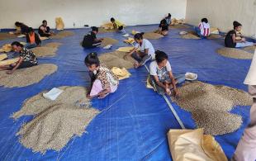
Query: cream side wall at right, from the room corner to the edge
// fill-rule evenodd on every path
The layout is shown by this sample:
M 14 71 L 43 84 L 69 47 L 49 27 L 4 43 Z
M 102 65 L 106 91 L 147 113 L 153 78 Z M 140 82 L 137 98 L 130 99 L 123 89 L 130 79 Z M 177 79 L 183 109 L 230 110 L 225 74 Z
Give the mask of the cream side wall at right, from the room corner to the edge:
M 198 25 L 202 17 L 220 31 L 229 31 L 233 21 L 239 21 L 245 36 L 256 34 L 256 0 L 187 0 L 186 22 Z

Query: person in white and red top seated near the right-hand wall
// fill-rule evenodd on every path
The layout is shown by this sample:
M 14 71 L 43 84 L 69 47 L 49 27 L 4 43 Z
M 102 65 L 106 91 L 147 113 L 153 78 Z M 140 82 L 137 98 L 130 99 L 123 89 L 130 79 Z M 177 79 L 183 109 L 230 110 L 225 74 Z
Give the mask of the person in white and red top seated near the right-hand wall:
M 206 38 L 210 36 L 210 24 L 208 23 L 207 18 L 202 18 L 201 22 L 199 23 L 198 27 L 195 27 L 195 31 L 198 36 L 201 38 Z

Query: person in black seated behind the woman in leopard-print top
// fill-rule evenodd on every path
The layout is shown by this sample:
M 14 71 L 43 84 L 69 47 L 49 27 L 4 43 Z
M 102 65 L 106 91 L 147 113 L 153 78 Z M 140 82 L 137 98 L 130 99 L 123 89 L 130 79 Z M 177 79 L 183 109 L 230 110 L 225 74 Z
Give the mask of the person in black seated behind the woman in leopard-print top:
M 103 39 L 97 39 L 97 32 L 98 28 L 96 26 L 92 26 L 92 31 L 90 31 L 86 36 L 83 37 L 82 46 L 84 48 L 95 48 L 98 45 L 102 45 Z

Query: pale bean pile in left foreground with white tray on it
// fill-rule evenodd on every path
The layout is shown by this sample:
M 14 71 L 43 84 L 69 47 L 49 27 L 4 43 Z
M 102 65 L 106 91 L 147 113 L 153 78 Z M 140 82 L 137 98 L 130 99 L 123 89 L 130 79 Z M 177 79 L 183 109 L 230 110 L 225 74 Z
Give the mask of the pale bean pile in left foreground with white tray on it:
M 60 87 L 64 90 L 55 101 L 40 92 L 26 100 L 20 111 L 12 115 L 33 115 L 32 121 L 17 132 L 20 142 L 33 152 L 45 153 L 47 149 L 59 151 L 73 136 L 81 136 L 99 111 L 90 107 L 87 91 L 83 87 Z

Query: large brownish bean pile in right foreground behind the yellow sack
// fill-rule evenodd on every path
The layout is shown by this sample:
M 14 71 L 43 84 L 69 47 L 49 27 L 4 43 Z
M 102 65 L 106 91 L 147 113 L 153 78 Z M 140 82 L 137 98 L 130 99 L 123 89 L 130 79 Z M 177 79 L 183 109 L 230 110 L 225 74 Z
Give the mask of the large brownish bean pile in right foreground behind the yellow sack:
M 239 129 L 242 118 L 230 110 L 235 106 L 250 106 L 253 102 L 247 92 L 201 82 L 185 83 L 179 93 L 180 97 L 172 97 L 172 100 L 191 111 L 197 126 L 209 135 L 223 135 Z

